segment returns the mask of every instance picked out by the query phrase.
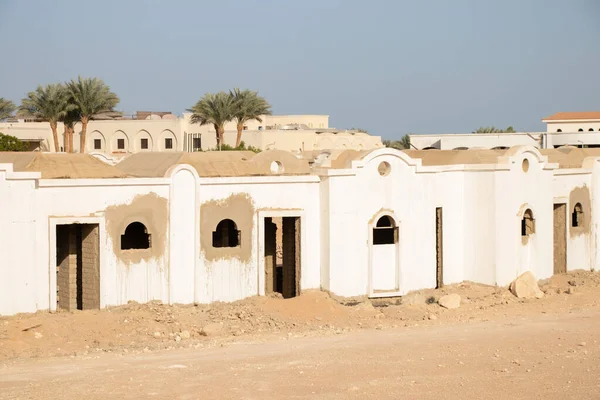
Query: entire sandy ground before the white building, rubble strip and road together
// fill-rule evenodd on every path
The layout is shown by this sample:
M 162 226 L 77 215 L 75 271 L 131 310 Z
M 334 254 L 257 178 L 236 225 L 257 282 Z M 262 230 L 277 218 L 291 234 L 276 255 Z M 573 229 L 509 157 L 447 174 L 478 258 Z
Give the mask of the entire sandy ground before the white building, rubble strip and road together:
M 402 302 L 311 292 L 5 317 L 0 398 L 598 399 L 599 286 L 577 272 L 539 300 L 466 283 Z M 444 293 L 461 307 L 435 304 Z

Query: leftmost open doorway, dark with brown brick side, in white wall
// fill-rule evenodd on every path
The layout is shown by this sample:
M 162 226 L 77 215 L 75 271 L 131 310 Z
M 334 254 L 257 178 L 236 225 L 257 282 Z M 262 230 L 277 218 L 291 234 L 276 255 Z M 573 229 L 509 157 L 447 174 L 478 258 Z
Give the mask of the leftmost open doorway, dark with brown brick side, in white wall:
M 56 303 L 68 311 L 100 308 L 98 224 L 56 225 Z

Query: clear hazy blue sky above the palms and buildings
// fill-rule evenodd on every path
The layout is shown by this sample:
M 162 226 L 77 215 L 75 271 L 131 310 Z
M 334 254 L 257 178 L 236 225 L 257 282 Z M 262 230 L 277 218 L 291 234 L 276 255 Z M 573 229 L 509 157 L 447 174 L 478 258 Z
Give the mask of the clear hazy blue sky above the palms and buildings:
M 390 139 L 600 110 L 597 0 L 0 0 L 0 46 L 17 103 L 77 75 L 126 113 L 240 87 Z

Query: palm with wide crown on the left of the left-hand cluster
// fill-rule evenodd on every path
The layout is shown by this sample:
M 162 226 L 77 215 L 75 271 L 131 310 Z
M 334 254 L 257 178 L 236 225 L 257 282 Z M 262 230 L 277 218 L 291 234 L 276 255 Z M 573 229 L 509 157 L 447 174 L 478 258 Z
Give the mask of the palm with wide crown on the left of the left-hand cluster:
M 58 153 L 57 125 L 71 108 L 72 105 L 69 103 L 69 95 L 65 86 L 58 83 L 38 86 L 34 92 L 27 93 L 27 97 L 21 100 L 19 113 L 23 116 L 50 123 L 52 138 L 54 139 L 54 151 Z

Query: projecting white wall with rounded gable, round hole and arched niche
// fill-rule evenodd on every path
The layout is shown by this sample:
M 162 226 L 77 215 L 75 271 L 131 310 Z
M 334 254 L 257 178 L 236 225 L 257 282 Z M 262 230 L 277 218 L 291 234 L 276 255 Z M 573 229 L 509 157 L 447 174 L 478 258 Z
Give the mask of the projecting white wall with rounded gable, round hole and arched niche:
M 436 191 L 438 177 L 415 173 L 400 152 L 379 151 L 356 176 L 329 176 L 329 257 L 324 268 L 329 276 L 329 289 L 342 296 L 369 293 L 370 234 L 373 224 L 382 214 L 392 215 L 399 227 L 399 291 L 404 294 L 436 286 L 436 225 L 435 209 L 442 207 L 444 218 L 444 277 L 452 282 L 462 277 L 460 244 L 462 230 L 460 186 L 462 177 L 449 174 L 444 178 L 447 187 L 459 193 L 448 196 Z M 403 155 L 402 157 L 406 157 Z M 381 176 L 381 162 L 391 170 Z M 392 261 L 390 261 L 392 262 Z M 385 295 L 385 294 L 379 294 Z

